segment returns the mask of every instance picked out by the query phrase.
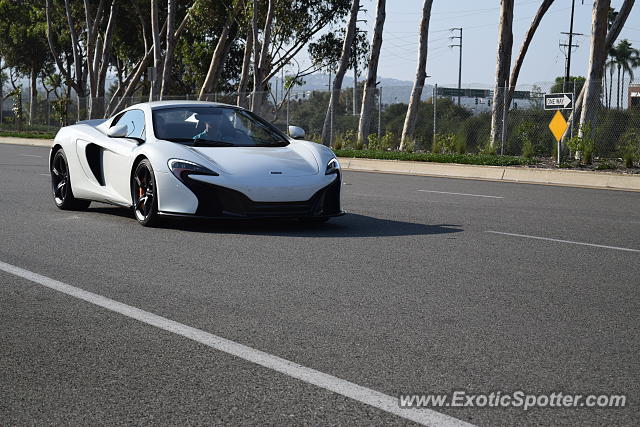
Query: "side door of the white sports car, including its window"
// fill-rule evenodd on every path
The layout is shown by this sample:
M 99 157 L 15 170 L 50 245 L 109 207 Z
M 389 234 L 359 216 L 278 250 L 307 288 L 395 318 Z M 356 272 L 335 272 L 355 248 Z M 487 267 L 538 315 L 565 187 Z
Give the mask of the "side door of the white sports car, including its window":
M 128 110 L 116 117 L 110 127 L 126 126 L 127 136 L 109 138 L 102 155 L 104 184 L 110 192 L 129 203 L 131 201 L 130 160 L 133 151 L 146 139 L 145 115 L 142 110 Z

